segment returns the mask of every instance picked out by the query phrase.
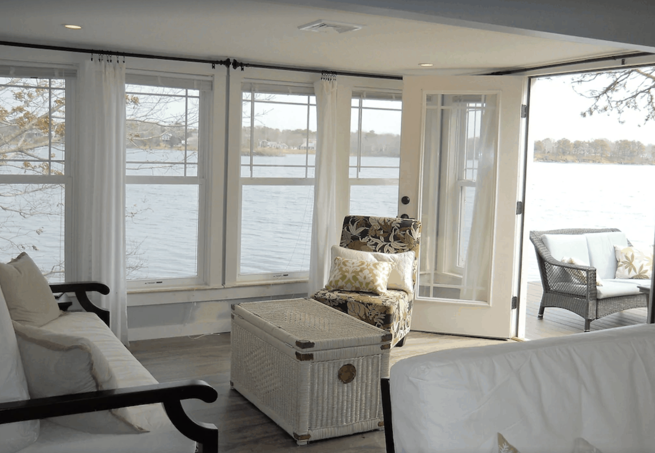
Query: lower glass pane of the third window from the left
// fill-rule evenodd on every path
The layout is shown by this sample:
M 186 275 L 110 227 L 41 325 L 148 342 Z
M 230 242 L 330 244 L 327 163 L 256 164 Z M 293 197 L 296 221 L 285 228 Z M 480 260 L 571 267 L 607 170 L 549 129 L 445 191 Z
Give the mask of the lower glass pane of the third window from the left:
M 242 189 L 240 274 L 308 271 L 314 187 Z

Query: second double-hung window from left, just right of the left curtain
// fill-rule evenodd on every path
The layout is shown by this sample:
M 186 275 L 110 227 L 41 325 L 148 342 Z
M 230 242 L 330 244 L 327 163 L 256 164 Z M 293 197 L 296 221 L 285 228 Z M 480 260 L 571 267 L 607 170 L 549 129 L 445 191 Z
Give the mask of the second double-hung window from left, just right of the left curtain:
M 126 76 L 126 269 L 130 287 L 204 281 L 204 121 L 210 79 Z

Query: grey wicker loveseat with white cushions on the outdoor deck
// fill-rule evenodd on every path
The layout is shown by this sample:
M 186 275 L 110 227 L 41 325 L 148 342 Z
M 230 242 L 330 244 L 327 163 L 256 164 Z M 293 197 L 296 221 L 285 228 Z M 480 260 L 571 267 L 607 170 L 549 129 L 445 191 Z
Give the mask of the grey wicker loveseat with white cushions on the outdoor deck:
M 544 291 L 540 319 L 546 307 L 565 308 L 584 317 L 584 331 L 588 332 L 595 319 L 648 305 L 648 297 L 637 286 L 648 285 L 650 280 L 615 278 L 614 245 L 632 245 L 620 230 L 531 231 L 530 240 L 536 251 Z M 562 263 L 563 257 L 576 257 L 588 265 Z M 596 285 L 597 277 L 602 280 L 602 286 Z

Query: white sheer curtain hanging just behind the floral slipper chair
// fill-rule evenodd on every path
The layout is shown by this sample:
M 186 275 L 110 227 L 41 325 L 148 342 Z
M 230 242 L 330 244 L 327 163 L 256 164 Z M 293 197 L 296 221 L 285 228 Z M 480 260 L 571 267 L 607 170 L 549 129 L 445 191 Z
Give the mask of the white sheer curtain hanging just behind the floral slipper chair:
M 316 93 L 316 182 L 309 261 L 311 296 L 329 277 L 330 248 L 339 244 L 337 219 L 337 81 L 323 76 L 314 83 Z

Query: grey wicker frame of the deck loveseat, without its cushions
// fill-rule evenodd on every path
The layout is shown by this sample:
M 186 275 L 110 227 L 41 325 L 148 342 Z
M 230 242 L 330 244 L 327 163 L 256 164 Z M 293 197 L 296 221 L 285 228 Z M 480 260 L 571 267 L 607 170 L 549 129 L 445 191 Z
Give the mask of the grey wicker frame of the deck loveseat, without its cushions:
M 531 231 L 530 240 L 534 244 L 536 261 L 539 267 L 544 293 L 539 308 L 539 316 L 544 308 L 565 308 L 585 319 L 585 331 L 594 319 L 630 308 L 645 307 L 648 298 L 645 294 L 607 297 L 597 299 L 596 270 L 589 266 L 561 263 L 550 255 L 544 244 L 544 234 L 585 234 L 620 231 L 617 228 L 570 228 L 563 230 Z M 630 242 L 627 242 L 631 245 Z

